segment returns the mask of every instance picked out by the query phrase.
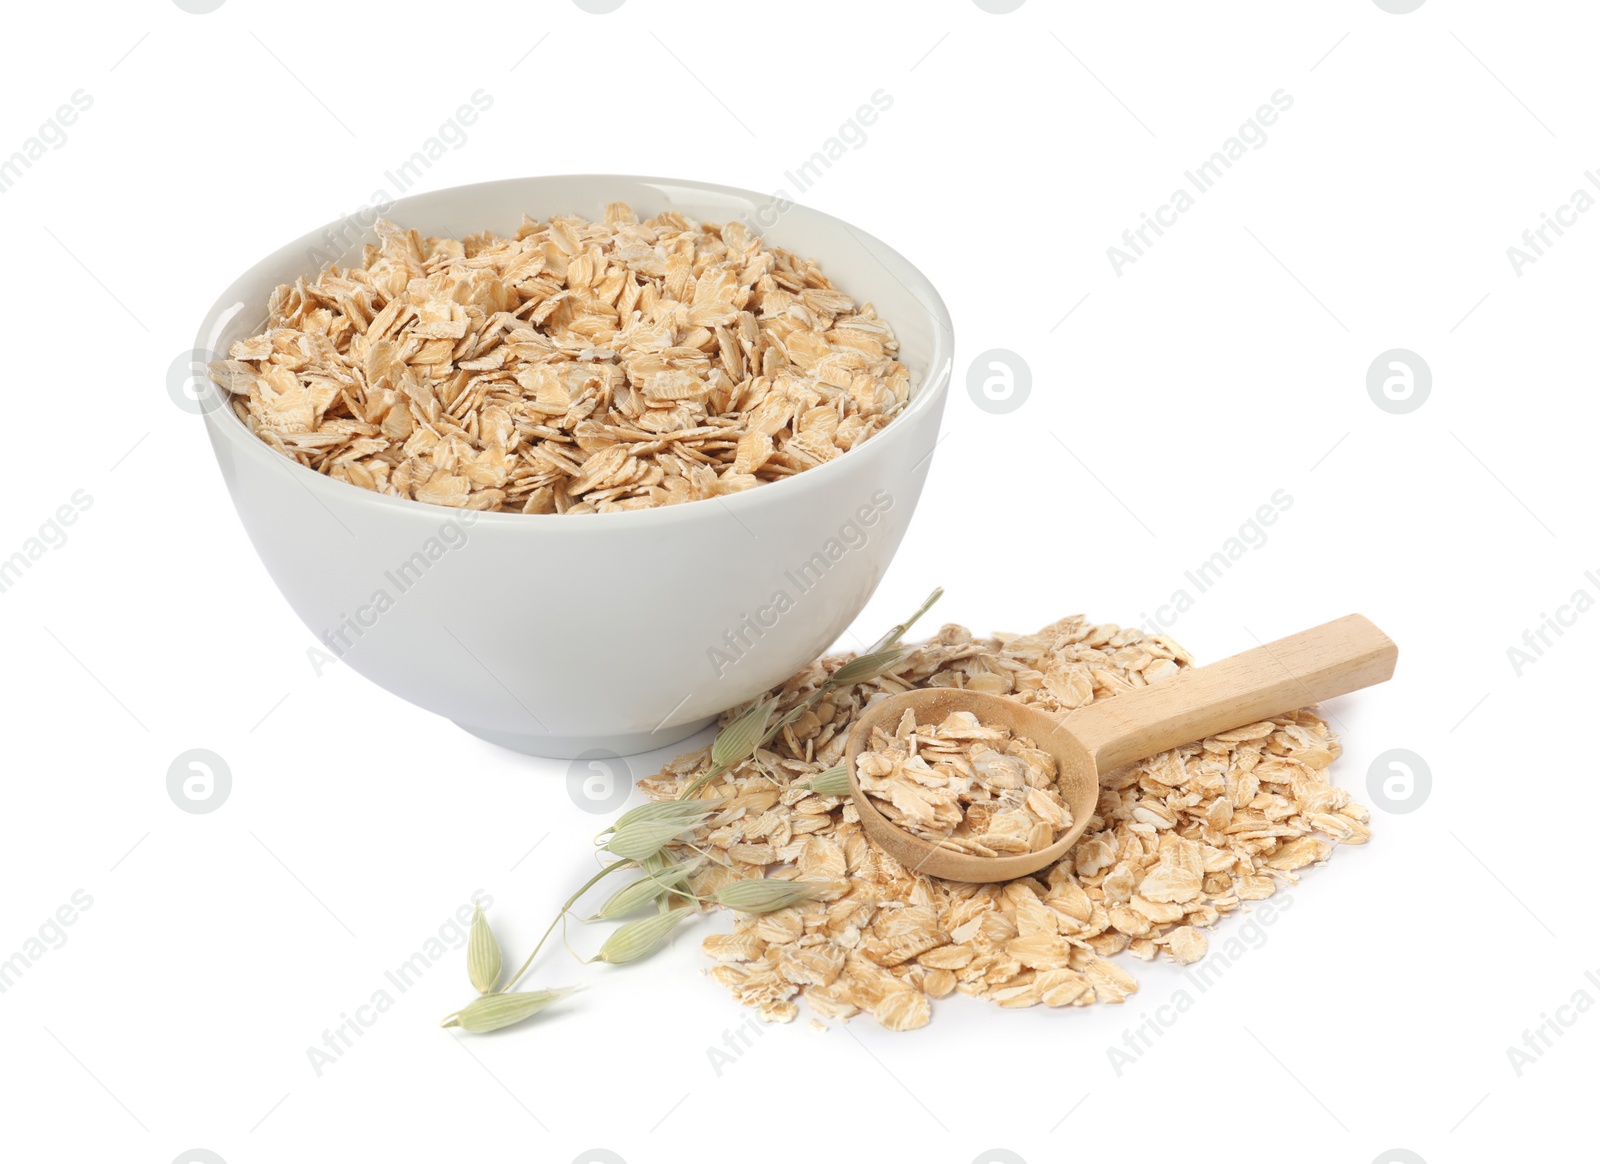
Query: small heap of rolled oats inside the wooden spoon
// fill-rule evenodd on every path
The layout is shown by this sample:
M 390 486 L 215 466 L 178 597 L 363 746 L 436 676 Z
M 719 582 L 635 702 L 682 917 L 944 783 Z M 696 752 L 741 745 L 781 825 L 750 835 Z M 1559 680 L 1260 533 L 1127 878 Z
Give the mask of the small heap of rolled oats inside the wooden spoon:
M 893 734 L 874 728 L 856 782 L 891 823 L 974 857 L 1038 852 L 1072 827 L 1054 756 L 971 712 L 918 724 L 907 708 Z

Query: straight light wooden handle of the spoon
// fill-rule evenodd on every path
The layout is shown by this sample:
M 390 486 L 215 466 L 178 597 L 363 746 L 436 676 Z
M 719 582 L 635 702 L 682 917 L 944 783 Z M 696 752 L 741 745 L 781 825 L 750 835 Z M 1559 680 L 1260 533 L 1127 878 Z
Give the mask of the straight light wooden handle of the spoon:
M 1382 683 L 1398 651 L 1360 614 L 1325 622 L 1232 659 L 1069 715 L 1094 766 L 1109 772 L 1157 751 Z

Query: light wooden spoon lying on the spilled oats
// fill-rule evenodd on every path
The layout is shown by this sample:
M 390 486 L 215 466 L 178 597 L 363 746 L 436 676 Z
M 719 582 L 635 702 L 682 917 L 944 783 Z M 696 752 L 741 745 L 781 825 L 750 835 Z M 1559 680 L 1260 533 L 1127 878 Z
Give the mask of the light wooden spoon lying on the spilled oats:
M 856 721 L 845 750 L 850 795 L 867 838 L 912 873 L 947 881 L 1011 881 L 1056 863 L 1077 844 L 1094 817 L 1102 772 L 1382 683 L 1394 675 L 1397 654 L 1378 627 L 1360 614 L 1347 614 L 1210 667 L 1096 700 L 1062 718 L 1003 696 L 918 688 L 878 700 Z M 1056 785 L 1072 809 L 1072 827 L 1038 852 L 979 857 L 944 849 L 891 823 L 861 791 L 856 759 L 872 740 L 872 729 L 893 734 L 906 708 L 917 713 L 920 724 L 971 712 L 981 723 L 1034 740 L 1056 759 Z

